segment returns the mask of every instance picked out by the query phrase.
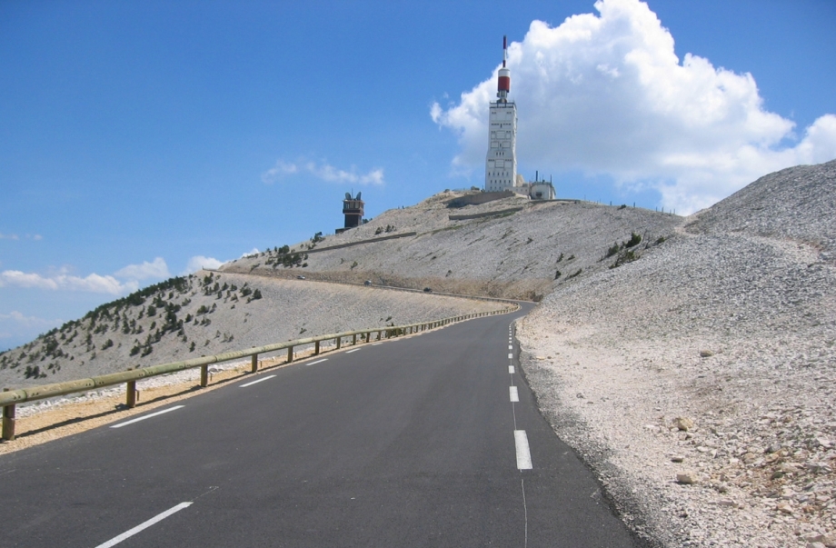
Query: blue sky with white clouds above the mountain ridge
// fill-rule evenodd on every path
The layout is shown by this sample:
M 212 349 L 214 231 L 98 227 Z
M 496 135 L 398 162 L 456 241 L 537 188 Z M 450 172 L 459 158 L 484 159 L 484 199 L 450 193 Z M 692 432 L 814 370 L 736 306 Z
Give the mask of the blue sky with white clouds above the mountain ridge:
M 836 3 L 597 8 L 0 1 L 0 349 L 333 233 L 346 191 L 481 186 L 503 35 L 519 169 L 561 196 L 688 213 L 836 157 Z

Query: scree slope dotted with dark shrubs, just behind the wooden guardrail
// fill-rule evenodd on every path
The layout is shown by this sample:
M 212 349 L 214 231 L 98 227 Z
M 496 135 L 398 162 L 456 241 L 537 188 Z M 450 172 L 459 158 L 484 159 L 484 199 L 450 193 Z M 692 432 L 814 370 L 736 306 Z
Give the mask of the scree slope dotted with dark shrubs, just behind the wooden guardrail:
M 442 295 L 200 272 L 103 304 L 29 344 L 0 353 L 0 386 L 58 383 L 499 307 Z

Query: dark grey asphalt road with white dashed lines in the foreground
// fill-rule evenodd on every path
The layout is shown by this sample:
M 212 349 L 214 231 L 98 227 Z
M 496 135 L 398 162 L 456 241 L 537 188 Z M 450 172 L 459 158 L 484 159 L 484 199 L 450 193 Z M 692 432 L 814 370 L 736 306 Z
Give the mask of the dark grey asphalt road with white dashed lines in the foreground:
M 529 309 L 0 456 L 0 545 L 637 546 L 524 383 Z

